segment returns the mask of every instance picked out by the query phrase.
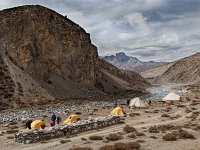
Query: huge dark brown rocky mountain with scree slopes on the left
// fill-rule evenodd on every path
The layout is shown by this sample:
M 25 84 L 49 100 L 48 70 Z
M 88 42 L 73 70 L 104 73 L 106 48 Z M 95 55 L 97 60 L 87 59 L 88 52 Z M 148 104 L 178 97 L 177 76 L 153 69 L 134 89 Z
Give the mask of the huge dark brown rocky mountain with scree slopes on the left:
M 29 5 L 2 10 L 0 28 L 1 61 L 10 76 L 9 91 L 14 93 L 7 98 L 11 103 L 14 99 L 25 104 L 103 99 L 127 91 L 143 92 L 150 85 L 134 72 L 122 72 L 99 60 L 90 35 L 48 8 Z M 20 86 L 15 88 L 18 83 Z

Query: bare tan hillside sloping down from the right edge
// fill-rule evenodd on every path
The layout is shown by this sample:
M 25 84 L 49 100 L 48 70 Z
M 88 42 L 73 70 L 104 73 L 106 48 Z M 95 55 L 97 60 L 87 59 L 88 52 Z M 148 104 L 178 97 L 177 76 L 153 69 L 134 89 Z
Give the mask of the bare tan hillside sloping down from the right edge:
M 142 72 L 141 75 L 152 83 L 200 82 L 200 53 Z

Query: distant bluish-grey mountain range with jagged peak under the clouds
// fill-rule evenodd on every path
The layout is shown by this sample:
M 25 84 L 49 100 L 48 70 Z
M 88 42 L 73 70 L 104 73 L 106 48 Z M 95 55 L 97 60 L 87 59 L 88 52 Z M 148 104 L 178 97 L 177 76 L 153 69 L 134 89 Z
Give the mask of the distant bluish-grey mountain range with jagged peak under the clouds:
M 166 62 L 143 62 L 136 57 L 127 56 L 124 52 L 116 53 L 116 55 L 104 56 L 102 57 L 102 59 L 120 69 L 136 72 L 143 72 L 145 70 L 149 70 L 166 64 Z

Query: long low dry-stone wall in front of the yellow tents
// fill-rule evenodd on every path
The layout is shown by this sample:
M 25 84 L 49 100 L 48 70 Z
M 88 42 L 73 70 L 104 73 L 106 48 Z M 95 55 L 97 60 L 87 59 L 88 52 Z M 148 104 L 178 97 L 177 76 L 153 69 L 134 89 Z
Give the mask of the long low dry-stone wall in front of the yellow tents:
M 59 137 L 70 137 L 74 134 L 105 128 L 120 123 L 120 117 L 107 116 L 81 120 L 65 126 L 49 127 L 44 130 L 20 131 L 15 134 L 15 141 L 19 143 L 35 143 Z

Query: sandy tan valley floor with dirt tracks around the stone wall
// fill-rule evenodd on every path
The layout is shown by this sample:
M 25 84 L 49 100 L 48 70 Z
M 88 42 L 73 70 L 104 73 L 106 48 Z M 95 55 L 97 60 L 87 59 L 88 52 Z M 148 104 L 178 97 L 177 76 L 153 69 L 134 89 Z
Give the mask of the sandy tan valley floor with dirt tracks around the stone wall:
M 127 116 L 123 117 L 124 124 L 107 127 L 100 130 L 94 130 L 86 133 L 78 134 L 71 138 L 58 138 L 50 141 L 19 144 L 14 142 L 13 134 L 7 134 L 6 131 L 18 128 L 22 129 L 22 124 L 2 125 L 0 127 L 0 144 L 1 150 L 78 150 L 79 147 L 91 147 L 98 150 L 104 145 L 113 145 L 114 143 L 138 142 L 141 150 L 200 150 L 200 89 L 199 86 L 184 86 L 188 93 L 183 96 L 183 102 L 176 103 L 170 107 L 166 107 L 162 102 L 153 101 L 148 109 L 129 109 L 123 106 L 127 112 Z M 106 116 L 113 108 L 98 108 L 92 117 Z M 80 111 L 80 110 L 74 110 Z M 83 114 L 84 112 L 81 113 Z M 88 116 L 85 116 L 85 118 Z M 138 132 L 133 132 L 136 136 L 130 138 L 132 133 L 127 133 L 123 129 L 126 125 L 134 127 Z M 171 125 L 171 126 L 170 126 Z M 157 126 L 155 133 L 152 126 Z M 194 138 L 178 138 L 175 141 L 165 141 L 163 136 L 173 131 L 187 131 L 194 135 Z M 24 130 L 24 129 L 23 129 Z M 106 137 L 109 134 L 119 134 L 121 139 L 117 141 L 109 141 Z M 103 140 L 90 140 L 91 136 L 102 136 Z M 187 137 L 187 136 L 185 136 Z M 102 149 L 103 150 L 103 149 Z

